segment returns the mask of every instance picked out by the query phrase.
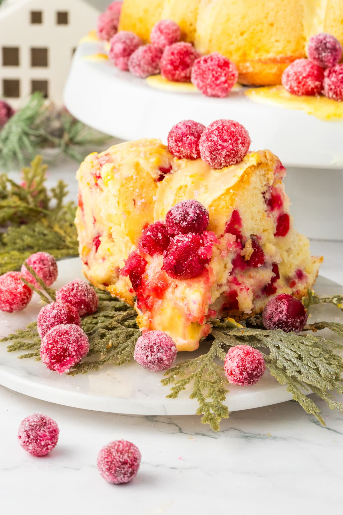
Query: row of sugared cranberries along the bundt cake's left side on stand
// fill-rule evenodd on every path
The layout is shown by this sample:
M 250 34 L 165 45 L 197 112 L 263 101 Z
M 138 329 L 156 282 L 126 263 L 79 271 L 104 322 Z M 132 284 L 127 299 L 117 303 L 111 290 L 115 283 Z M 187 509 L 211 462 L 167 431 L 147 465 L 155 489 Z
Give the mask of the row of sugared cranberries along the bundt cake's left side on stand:
M 204 95 L 226 97 L 238 79 L 236 65 L 218 53 L 201 56 L 191 43 L 180 41 L 181 30 L 172 20 L 157 22 L 150 34 L 151 43 L 130 31 L 116 33 L 114 15 L 100 15 L 98 35 L 111 39 L 109 57 L 120 70 L 146 78 L 161 75 L 174 82 L 192 82 Z M 104 37 L 111 34 L 110 37 Z

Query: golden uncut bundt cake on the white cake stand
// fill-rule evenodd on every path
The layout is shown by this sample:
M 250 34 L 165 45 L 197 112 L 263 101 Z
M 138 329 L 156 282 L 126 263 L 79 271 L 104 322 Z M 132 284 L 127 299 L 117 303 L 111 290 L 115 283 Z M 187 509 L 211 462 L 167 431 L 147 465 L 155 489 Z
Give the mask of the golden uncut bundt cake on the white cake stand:
M 329 32 L 343 44 L 341 0 L 124 0 L 119 30 L 147 42 L 154 24 L 171 19 L 203 54 L 219 52 L 242 84 L 281 83 L 288 64 L 305 57 L 310 36 Z

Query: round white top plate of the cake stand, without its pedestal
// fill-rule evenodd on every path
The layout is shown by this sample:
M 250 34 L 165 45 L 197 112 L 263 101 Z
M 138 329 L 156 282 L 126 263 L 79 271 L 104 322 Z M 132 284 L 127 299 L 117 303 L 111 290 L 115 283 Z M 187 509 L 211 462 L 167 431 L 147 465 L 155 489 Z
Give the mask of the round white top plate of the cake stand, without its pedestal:
M 343 164 L 343 124 L 321 121 L 303 111 L 258 104 L 241 92 L 227 98 L 151 88 L 110 61 L 85 59 L 104 53 L 101 42 L 79 45 L 64 89 L 64 103 L 82 122 L 123 140 L 161 138 L 180 120 L 205 125 L 238 120 L 249 131 L 251 149 L 270 148 L 286 166 L 336 168 Z M 305 137 L 299 138 L 299 134 Z

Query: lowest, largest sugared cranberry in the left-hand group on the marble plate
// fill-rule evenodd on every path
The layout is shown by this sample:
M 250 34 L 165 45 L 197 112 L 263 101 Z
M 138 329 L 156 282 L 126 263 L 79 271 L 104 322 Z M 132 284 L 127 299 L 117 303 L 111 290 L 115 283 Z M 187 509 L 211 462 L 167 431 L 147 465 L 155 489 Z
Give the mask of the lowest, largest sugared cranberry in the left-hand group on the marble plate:
M 55 325 L 41 342 L 42 362 L 49 370 L 59 374 L 69 372 L 89 351 L 89 341 L 82 329 L 74 323 Z

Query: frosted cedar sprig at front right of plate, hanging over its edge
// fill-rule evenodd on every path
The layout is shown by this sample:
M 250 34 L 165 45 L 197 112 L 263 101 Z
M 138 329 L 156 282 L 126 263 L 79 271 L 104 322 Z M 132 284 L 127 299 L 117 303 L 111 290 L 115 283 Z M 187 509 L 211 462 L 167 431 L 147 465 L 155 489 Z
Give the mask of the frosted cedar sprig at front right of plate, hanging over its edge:
M 323 327 L 335 330 L 337 334 L 343 333 L 343 324 L 321 323 Z M 210 338 L 214 340 L 207 354 L 179 363 L 168 370 L 166 378 L 162 380 L 165 385 L 174 385 L 169 395 L 171 398 L 176 398 L 180 391 L 192 383 L 190 398 L 197 399 L 198 414 L 207 413 L 206 399 L 212 393 L 211 383 L 206 384 L 206 381 L 203 381 L 204 368 L 199 366 L 199 362 L 205 362 L 205 374 L 213 374 L 210 375 L 210 380 L 216 383 L 215 388 L 222 396 L 226 379 L 223 377 L 222 383 L 219 383 L 218 376 L 213 373 L 209 362 L 214 366 L 215 355 L 224 361 L 227 349 L 236 345 L 250 345 L 260 350 L 265 348 L 264 359 L 270 373 L 280 384 L 287 386 L 287 390 L 293 394 L 293 399 L 299 402 L 307 413 L 314 415 L 322 424 L 324 421 L 320 416 L 319 407 L 312 399 L 306 397 L 305 392 L 312 391 L 331 409 L 343 411 L 343 404 L 334 401 L 331 393 L 334 390 L 343 393 L 343 360 L 329 348 L 341 350 L 343 346 L 334 340 L 312 334 L 298 335 L 280 330 L 248 328 L 232 320 L 215 321 Z M 218 368 L 222 370 L 222 367 Z M 214 431 L 220 428 L 220 420 L 224 418 L 222 413 L 225 414 L 225 418 L 228 416 L 228 411 L 224 410 L 224 400 L 225 393 L 219 398 L 219 402 L 216 400 L 211 406 L 211 416 L 203 418 L 203 422 L 208 421 Z

